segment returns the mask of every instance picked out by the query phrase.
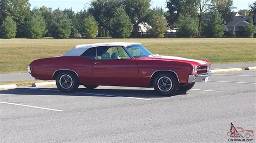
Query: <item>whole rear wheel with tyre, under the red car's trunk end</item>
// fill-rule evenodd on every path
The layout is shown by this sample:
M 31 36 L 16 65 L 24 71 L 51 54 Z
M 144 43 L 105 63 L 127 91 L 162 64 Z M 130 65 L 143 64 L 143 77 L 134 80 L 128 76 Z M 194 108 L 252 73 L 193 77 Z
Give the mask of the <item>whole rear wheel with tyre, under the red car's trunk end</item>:
M 73 92 L 79 87 L 79 79 L 75 73 L 63 71 L 57 75 L 56 85 L 60 91 Z

